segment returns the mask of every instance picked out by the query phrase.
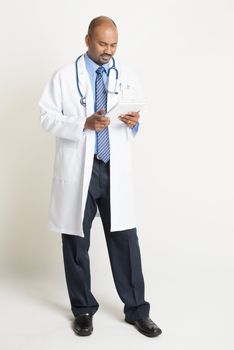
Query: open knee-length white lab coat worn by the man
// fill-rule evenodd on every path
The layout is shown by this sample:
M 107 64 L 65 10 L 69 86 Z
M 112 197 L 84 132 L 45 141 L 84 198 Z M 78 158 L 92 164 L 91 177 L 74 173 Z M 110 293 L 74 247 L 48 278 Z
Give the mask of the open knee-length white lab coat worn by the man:
M 84 57 L 78 61 L 80 87 L 87 107 L 80 104 L 75 63 L 58 69 L 40 98 L 40 121 L 56 137 L 49 230 L 83 237 L 82 222 L 93 167 L 95 131 L 83 130 L 94 113 L 93 93 Z M 117 65 L 119 94 L 108 94 L 109 110 L 120 99 L 142 100 L 133 72 Z M 110 85 L 114 85 L 114 74 Z M 141 115 L 142 118 L 142 115 Z M 140 118 L 140 119 L 141 119 Z M 136 227 L 131 164 L 132 131 L 117 118 L 109 125 L 111 231 Z

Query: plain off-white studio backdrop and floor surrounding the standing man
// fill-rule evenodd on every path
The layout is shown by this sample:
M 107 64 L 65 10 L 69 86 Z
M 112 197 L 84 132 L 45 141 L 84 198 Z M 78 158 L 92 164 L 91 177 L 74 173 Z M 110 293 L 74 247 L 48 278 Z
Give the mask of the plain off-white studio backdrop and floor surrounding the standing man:
M 233 2 L 1 5 L 2 348 L 233 349 Z M 38 100 L 53 72 L 86 50 L 98 15 L 117 23 L 116 56 L 148 101 L 134 181 L 146 298 L 163 330 L 155 339 L 123 322 L 98 220 L 90 257 L 100 308 L 93 335 L 75 336 L 61 237 L 47 231 L 54 139 L 40 128 Z

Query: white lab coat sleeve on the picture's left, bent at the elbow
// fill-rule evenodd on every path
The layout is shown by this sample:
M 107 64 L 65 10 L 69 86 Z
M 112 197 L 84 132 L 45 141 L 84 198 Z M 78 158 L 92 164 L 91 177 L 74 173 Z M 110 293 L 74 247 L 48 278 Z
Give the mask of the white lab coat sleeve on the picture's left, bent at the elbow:
M 52 135 L 73 141 L 78 141 L 84 135 L 86 118 L 63 114 L 59 72 L 55 72 L 46 84 L 39 100 L 39 108 L 41 126 Z

